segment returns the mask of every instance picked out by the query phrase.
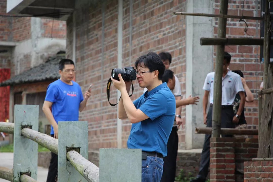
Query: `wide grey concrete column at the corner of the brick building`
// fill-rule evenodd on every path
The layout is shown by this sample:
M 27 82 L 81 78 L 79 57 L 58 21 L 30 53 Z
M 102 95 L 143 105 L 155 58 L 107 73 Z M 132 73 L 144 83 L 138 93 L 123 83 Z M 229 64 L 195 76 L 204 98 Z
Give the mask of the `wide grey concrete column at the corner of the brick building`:
M 214 14 L 213 0 L 187 0 L 186 12 Z M 203 124 L 203 84 L 213 71 L 213 46 L 201 46 L 201 37 L 213 37 L 213 18 L 186 16 L 186 97 L 199 96 L 198 105 L 186 106 L 186 149 L 203 148 L 204 135 L 195 134 Z

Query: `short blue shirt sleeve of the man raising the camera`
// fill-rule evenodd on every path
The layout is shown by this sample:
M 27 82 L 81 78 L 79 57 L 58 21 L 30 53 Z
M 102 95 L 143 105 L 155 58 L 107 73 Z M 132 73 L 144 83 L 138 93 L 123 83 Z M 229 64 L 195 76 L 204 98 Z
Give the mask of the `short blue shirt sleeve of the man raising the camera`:
M 155 93 L 147 99 L 139 109 L 153 121 L 167 113 L 166 104 L 167 97 L 162 93 Z

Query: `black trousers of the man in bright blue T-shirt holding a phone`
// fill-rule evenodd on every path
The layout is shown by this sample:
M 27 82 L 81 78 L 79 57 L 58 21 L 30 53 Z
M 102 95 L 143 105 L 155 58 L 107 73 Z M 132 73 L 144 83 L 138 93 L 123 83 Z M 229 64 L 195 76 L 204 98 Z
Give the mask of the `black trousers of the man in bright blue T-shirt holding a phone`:
M 51 135 L 54 137 L 54 135 Z M 58 175 L 58 155 L 51 152 L 51 160 L 48 168 L 48 178 L 46 182 L 57 181 Z

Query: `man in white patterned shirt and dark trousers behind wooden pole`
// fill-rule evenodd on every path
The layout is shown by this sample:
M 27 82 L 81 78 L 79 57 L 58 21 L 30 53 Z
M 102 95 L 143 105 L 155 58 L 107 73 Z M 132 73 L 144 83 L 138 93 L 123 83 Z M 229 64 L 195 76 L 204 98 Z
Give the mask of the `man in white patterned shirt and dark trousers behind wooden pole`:
M 223 77 L 222 77 L 222 112 L 221 112 L 221 128 L 235 128 L 235 124 L 239 122 L 239 118 L 245 105 L 244 87 L 241 76 L 230 71 L 227 67 L 230 64 L 231 55 L 227 52 L 224 54 Z M 212 107 L 213 107 L 213 83 L 214 72 L 208 73 L 204 82 L 205 90 L 203 97 L 203 115 L 204 124 L 212 127 Z M 239 94 L 241 101 L 236 114 L 233 111 L 233 103 L 236 94 Z M 207 102 L 210 102 L 209 112 L 206 114 Z M 211 134 L 205 135 L 203 150 L 201 153 L 201 161 L 199 165 L 199 173 L 191 182 L 205 182 L 210 162 L 210 137 Z M 232 137 L 232 135 L 222 135 L 222 137 Z

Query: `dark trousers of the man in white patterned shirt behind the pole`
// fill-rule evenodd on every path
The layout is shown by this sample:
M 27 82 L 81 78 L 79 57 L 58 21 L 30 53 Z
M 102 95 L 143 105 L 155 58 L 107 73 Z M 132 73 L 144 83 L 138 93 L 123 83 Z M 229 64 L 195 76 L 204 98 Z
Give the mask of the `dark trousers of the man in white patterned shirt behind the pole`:
M 235 116 L 232 106 L 222 106 L 221 112 L 221 128 L 235 128 L 235 124 L 232 122 Z M 212 127 L 212 106 L 209 107 L 207 113 L 207 127 Z M 232 137 L 232 135 L 222 135 L 222 137 Z M 205 135 L 205 141 L 203 150 L 201 153 L 201 160 L 199 165 L 199 173 L 197 177 L 205 179 L 209 171 L 210 162 L 210 138 L 211 134 Z

